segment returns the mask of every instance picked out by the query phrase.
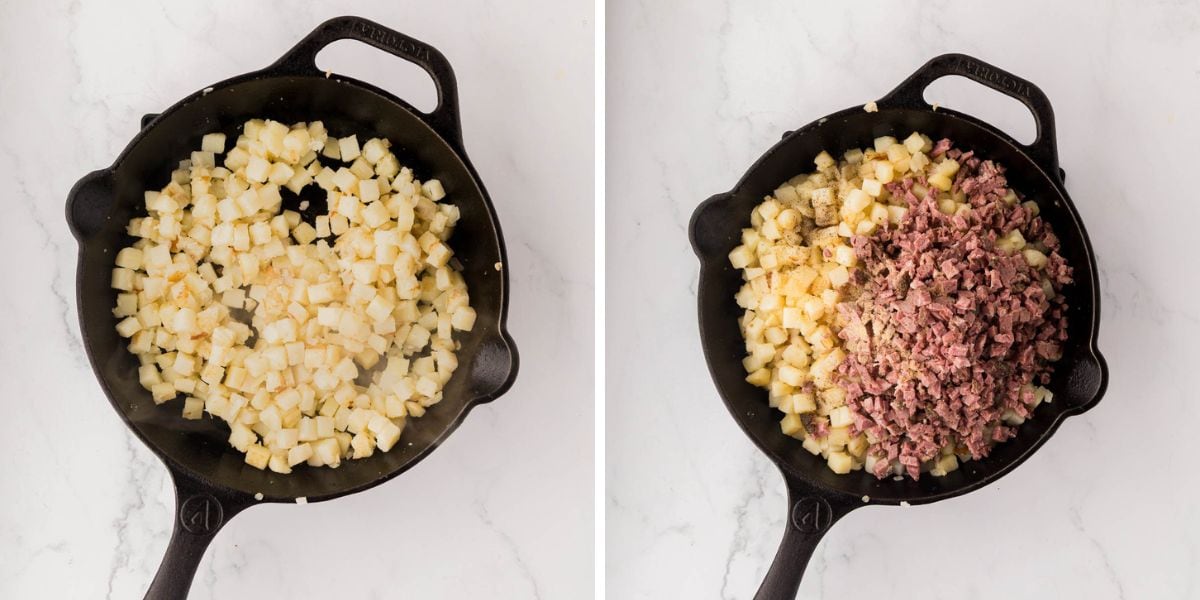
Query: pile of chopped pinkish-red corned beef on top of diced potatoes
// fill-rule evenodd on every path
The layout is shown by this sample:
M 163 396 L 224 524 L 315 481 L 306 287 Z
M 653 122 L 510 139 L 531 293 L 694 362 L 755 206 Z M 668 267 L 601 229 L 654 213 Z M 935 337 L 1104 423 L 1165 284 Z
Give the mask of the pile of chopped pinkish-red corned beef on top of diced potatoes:
M 943 448 L 973 458 L 1015 434 L 1002 421 L 1025 418 L 1033 384 L 1045 384 L 1067 338 L 1061 293 L 1072 270 L 1049 226 L 1006 202 L 1003 169 L 972 152 L 936 144 L 961 164 L 952 192 L 970 211 L 946 215 L 924 176 L 888 184 L 908 212 L 896 227 L 852 239 L 860 260 L 858 295 L 839 305 L 847 358 L 839 366 L 853 433 L 871 440 L 876 476 L 895 461 L 913 479 Z M 1012 200 L 1012 197 L 1009 197 Z M 1019 230 L 1046 256 L 1040 269 L 997 247 Z

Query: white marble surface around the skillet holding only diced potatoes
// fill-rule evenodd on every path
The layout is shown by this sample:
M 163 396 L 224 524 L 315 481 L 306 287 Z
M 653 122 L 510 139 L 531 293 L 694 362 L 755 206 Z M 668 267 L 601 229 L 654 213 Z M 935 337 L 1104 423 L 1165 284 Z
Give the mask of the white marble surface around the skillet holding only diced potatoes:
M 0 1 L 0 406 L 11 415 L 0 598 L 142 598 L 172 522 L 166 469 L 125 430 L 80 348 L 67 191 L 115 158 L 144 113 L 266 66 L 337 14 L 412 34 L 454 64 L 466 144 L 508 240 L 522 372 L 404 476 L 233 520 L 191 598 L 589 596 L 590 2 L 164 6 Z M 415 68 L 395 76 L 400 59 L 346 43 L 323 66 L 432 98 Z

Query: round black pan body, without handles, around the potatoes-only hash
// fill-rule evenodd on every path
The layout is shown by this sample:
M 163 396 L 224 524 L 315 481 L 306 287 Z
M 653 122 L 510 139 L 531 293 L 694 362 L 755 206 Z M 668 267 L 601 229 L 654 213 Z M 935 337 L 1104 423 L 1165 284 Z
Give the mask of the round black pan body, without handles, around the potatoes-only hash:
M 227 146 L 252 118 L 286 124 L 324 121 L 335 136 L 356 133 L 385 137 L 401 163 L 421 180 L 440 179 L 448 200 L 462 212 L 451 239 L 478 312 L 475 329 L 460 336 L 460 368 L 444 390 L 444 400 L 425 416 L 409 420 L 392 451 L 371 458 L 343 461 L 337 469 L 300 466 L 290 475 L 258 470 L 227 443 L 223 421 L 205 416 L 180 418 L 180 403 L 155 406 L 138 384 L 137 359 L 125 348 L 112 314 L 116 293 L 109 287 L 114 252 L 130 244 L 125 224 L 144 215 L 142 193 L 169 181 L 178 161 L 199 148 L 203 134 L 228 136 Z M 101 385 L 113 404 L 150 448 L 174 468 L 245 493 L 270 499 L 307 497 L 313 500 L 349 493 L 396 475 L 431 451 L 461 421 L 473 402 L 504 391 L 515 370 L 515 354 L 503 331 L 504 277 L 494 269 L 503 258 L 498 227 L 481 185 L 472 169 L 432 128 L 383 94 L 366 85 L 324 77 L 247 77 L 197 96 L 173 108 L 139 134 L 113 167 L 112 206 L 74 206 L 73 227 L 80 234 L 78 274 L 83 337 Z M 316 186 L 312 186 L 316 187 Z M 284 192 L 287 194 L 287 192 Z M 306 218 L 324 209 L 324 194 L 312 197 Z M 296 209 L 299 199 L 286 200 Z M 104 215 L 104 218 L 98 218 Z M 92 216 L 91 218 L 86 218 Z M 84 222 L 80 222 L 84 221 Z

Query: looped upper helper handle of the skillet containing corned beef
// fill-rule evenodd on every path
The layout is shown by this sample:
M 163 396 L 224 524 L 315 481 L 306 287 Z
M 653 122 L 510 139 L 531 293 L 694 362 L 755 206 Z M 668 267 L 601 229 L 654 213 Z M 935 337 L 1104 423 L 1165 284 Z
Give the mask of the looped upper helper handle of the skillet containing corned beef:
M 929 104 L 925 103 L 924 97 L 925 88 L 929 88 L 935 80 L 952 74 L 966 77 L 1025 104 L 1033 113 L 1033 122 L 1037 125 L 1038 134 L 1032 144 L 1025 145 L 1019 142 L 1016 144 L 1042 164 L 1050 176 L 1060 176 L 1058 142 L 1055 134 L 1054 108 L 1050 107 L 1050 98 L 1037 85 L 1003 68 L 966 54 L 942 54 L 922 65 L 916 73 L 908 76 L 887 96 L 880 98 L 878 103 L 881 106 L 928 108 Z

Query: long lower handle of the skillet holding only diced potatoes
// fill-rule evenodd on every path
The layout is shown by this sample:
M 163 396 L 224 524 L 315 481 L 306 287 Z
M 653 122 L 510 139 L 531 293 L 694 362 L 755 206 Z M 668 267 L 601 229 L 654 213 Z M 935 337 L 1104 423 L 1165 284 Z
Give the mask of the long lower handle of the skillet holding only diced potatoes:
M 245 499 L 212 490 L 175 469 L 170 469 L 170 478 L 175 482 L 175 526 L 146 600 L 187 598 L 209 542 L 226 522 L 250 505 Z

